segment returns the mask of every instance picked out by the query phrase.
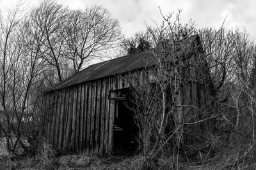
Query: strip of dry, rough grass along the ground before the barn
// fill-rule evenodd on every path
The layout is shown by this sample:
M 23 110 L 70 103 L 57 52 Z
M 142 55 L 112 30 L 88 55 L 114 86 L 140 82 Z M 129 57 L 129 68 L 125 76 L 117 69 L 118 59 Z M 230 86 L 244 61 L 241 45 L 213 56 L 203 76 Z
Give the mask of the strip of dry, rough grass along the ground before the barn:
M 243 152 L 227 150 L 216 153 L 207 158 L 207 154 L 198 155 L 200 159 L 188 159 L 181 155 L 179 169 L 256 169 L 255 157 L 243 157 Z M 209 156 L 209 155 L 208 155 Z M 65 155 L 51 157 L 51 155 L 36 155 L 33 157 L 17 158 L 14 163 L 16 169 L 141 169 L 143 157 L 93 158 L 84 155 Z M 152 169 L 173 169 L 172 157 L 161 157 Z M 0 159 L 0 169 L 10 169 L 8 158 Z

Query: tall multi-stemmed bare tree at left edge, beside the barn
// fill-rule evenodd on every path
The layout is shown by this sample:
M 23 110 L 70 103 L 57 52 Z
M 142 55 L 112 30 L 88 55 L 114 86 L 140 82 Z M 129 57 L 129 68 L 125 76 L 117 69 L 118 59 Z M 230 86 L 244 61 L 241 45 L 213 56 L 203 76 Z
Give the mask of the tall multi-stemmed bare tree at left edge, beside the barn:
M 38 78 L 44 67 L 40 59 L 40 48 L 36 39 L 29 36 L 30 25 L 22 22 L 20 6 L 10 11 L 8 17 L 1 16 L 1 122 L 0 129 L 6 139 L 6 149 L 13 159 L 22 148 L 29 150 L 27 145 L 30 134 L 28 126 L 36 117 L 36 105 L 40 101 L 42 87 Z M 2 74 L 3 73 L 3 74 Z M 35 115 L 34 115 L 35 113 Z M 36 133 L 36 126 L 29 129 Z

